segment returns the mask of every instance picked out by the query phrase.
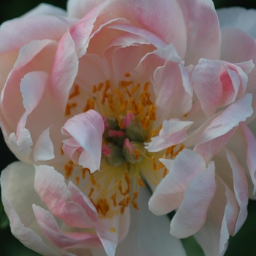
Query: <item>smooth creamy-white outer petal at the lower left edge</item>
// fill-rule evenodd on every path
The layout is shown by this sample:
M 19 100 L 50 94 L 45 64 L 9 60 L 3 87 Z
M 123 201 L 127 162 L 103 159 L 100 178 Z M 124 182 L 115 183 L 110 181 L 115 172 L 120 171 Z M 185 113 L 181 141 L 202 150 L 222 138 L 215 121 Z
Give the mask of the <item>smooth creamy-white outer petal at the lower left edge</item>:
M 14 162 L 1 172 L 1 200 L 10 219 L 12 234 L 25 246 L 41 255 L 59 255 L 50 248 L 39 230 L 32 204 L 42 206 L 34 191 L 34 167 Z

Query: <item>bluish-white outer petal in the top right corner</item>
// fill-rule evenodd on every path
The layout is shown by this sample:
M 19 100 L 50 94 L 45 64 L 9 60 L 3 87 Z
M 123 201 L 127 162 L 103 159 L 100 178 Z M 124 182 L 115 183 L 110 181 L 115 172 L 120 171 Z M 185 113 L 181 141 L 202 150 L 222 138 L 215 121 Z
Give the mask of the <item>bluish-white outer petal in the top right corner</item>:
M 233 27 L 246 31 L 252 37 L 256 38 L 256 11 L 247 10 L 242 7 L 229 7 L 217 10 L 219 26 Z

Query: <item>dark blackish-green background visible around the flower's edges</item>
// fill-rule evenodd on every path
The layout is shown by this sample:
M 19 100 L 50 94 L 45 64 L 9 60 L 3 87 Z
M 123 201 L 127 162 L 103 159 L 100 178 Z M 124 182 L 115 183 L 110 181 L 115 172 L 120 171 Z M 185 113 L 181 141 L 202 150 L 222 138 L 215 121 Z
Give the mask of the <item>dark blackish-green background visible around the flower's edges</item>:
M 86 0 L 85 0 L 86 1 Z M 42 1 L 39 0 L 0 0 L 0 24 L 4 20 L 23 15 L 23 13 L 36 7 Z M 66 0 L 45 0 L 45 3 L 53 4 L 55 6 L 66 9 Z M 240 6 L 245 8 L 255 8 L 256 1 L 252 0 L 215 0 L 216 8 Z M 256 27 L 255 27 L 256 29 Z M 1 38 L 0 38 L 1 40 Z M 15 157 L 10 150 L 5 146 L 4 140 L 0 133 L 0 171 L 4 169 L 10 162 L 15 161 Z M 225 256 L 255 256 L 256 255 L 256 201 L 249 201 L 248 206 L 249 215 L 244 226 L 238 234 L 230 238 Z M 188 256 L 203 255 L 200 247 L 195 243 L 194 238 L 183 239 L 184 246 L 187 250 Z M 4 214 L 3 207 L 0 201 L 0 255 L 3 256 L 35 256 L 35 252 L 27 249 L 23 244 L 12 236 L 8 219 Z M 139 256 L 139 255 L 135 255 Z M 160 256 L 160 255 L 159 255 Z M 162 256 L 162 255 L 161 255 Z

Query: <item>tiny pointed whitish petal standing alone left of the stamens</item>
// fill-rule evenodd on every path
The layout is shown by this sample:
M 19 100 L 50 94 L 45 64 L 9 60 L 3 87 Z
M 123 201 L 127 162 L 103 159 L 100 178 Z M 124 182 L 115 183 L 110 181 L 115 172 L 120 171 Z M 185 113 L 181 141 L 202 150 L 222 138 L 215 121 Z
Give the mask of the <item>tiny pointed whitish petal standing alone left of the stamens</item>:
M 33 148 L 34 162 L 47 161 L 53 159 L 54 148 L 53 142 L 50 140 L 50 127 L 45 129 L 41 135 L 39 135 Z

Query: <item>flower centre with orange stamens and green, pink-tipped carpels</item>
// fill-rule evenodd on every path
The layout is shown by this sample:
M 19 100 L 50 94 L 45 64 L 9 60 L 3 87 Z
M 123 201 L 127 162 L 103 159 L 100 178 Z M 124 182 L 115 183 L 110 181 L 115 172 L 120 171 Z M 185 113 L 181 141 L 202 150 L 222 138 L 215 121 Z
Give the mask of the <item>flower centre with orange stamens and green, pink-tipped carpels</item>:
M 182 150 L 180 148 L 175 153 L 174 147 L 171 147 L 164 156 L 163 152 L 153 154 L 146 151 L 144 142 L 161 129 L 154 128 L 157 106 L 149 86 L 147 81 L 135 83 L 126 73 L 117 86 L 112 86 L 110 80 L 106 80 L 92 86 L 89 95 L 88 91 L 83 91 L 83 85 L 74 85 L 69 94 L 66 116 L 94 109 L 104 119 L 100 171 L 91 174 L 89 169 L 79 167 L 72 161 L 65 165 L 66 178 L 71 178 L 72 173 L 78 171 L 82 173 L 75 177 L 76 183 L 83 188 L 102 217 L 122 214 L 129 204 L 138 209 L 135 200 L 139 189 L 145 187 L 140 175 L 157 185 L 167 169 L 156 159 L 168 155 L 172 157 Z M 163 173 L 159 173 L 162 169 Z M 81 176 L 85 180 L 83 185 Z M 86 177 L 89 179 L 86 180 Z

